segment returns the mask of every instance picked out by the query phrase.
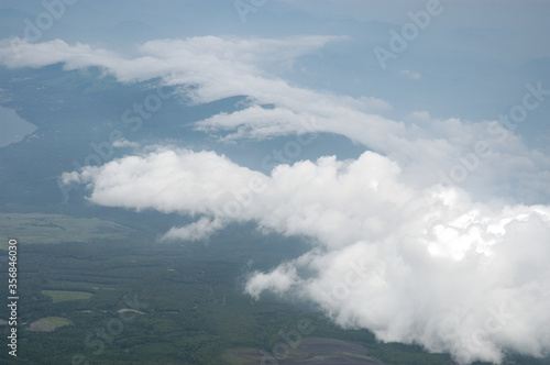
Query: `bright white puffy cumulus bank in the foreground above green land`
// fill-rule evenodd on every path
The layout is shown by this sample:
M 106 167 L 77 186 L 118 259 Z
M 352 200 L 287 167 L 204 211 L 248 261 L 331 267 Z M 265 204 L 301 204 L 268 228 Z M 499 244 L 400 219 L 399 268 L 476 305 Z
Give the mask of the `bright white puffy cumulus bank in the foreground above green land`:
M 65 178 L 88 184 L 99 204 L 202 215 L 166 237 L 204 239 L 229 221 L 311 237 L 309 253 L 251 275 L 253 297 L 298 296 L 344 328 L 447 351 L 464 364 L 498 362 L 505 349 L 548 354 L 550 207 L 418 190 L 400 174 L 373 152 L 283 164 L 267 176 L 212 152 L 176 150 Z

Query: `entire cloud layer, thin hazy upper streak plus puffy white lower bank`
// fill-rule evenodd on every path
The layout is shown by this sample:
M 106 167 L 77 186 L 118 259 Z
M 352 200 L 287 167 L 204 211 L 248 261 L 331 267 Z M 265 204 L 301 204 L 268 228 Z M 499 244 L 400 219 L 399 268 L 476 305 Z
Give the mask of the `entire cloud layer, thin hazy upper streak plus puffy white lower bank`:
M 86 184 L 98 204 L 196 217 L 165 240 L 202 240 L 246 221 L 310 237 L 309 253 L 251 275 L 246 290 L 255 298 L 266 290 L 298 296 L 342 327 L 448 351 L 464 364 L 498 362 L 506 349 L 548 354 L 550 208 L 518 203 L 548 202 L 548 156 L 501 121 L 427 112 L 396 121 L 384 117 L 386 101 L 278 76 L 328 42 L 345 38 L 162 40 L 139 46 L 133 58 L 12 40 L 0 44 L 0 62 L 99 66 L 122 82 L 162 77 L 195 103 L 248 96 L 244 109 L 196 125 L 228 141 L 321 132 L 364 145 L 373 152 L 356 159 L 283 163 L 270 175 L 215 152 L 157 148 L 63 178 Z

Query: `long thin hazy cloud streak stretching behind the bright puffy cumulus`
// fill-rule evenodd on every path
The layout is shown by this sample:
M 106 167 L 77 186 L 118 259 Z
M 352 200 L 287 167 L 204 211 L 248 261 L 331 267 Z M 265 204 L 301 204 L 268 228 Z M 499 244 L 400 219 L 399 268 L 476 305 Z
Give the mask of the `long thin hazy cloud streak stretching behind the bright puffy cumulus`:
M 59 40 L 30 44 L 15 38 L 1 41 L 0 62 L 9 67 L 64 62 L 69 69 L 95 65 L 124 82 L 163 77 L 195 103 L 249 96 L 251 106 L 246 109 L 212 115 L 199 121 L 197 129 L 213 134 L 224 132 L 223 139 L 228 141 L 305 131 L 336 133 L 397 162 L 403 179 L 417 188 L 443 181 L 441 174 L 449 176 L 454 169 L 465 170 L 468 176 L 459 179 L 459 184 L 476 197 L 549 201 L 550 173 L 544 172 L 550 169 L 550 159 L 528 148 L 512 131 L 494 125 L 495 121 L 470 123 L 460 119 L 439 120 L 429 114 L 418 118 L 418 113 L 396 121 L 380 114 L 391 110 L 384 100 L 305 89 L 277 76 L 277 67 L 273 65 L 278 62 L 295 59 L 328 42 L 345 40 L 341 36 L 160 40 L 138 46 L 138 57 L 124 58 L 106 49 L 82 44 L 72 46 Z M 263 109 L 261 104 L 275 108 Z M 486 156 L 475 156 L 479 143 L 490 150 Z

